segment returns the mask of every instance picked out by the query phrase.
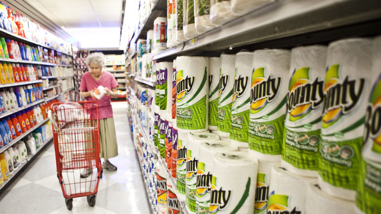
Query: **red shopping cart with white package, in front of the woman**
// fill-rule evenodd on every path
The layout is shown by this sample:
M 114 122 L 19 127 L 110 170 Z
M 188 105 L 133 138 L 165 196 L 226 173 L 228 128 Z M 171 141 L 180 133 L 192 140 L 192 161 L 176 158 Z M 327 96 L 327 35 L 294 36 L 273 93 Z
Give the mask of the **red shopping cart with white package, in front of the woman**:
M 73 208 L 73 198 L 87 196 L 95 205 L 102 165 L 99 158 L 98 105 L 95 102 L 66 102 L 52 104 L 48 117 L 53 126 L 57 177 L 60 181 L 66 208 Z M 81 172 L 89 171 L 81 177 Z

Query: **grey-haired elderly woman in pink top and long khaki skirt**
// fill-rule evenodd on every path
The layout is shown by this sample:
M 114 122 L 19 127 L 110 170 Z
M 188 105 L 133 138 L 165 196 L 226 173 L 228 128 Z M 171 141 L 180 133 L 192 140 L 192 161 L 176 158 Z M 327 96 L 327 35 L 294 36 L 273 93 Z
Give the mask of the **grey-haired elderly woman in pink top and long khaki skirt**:
M 115 171 L 117 168 L 108 161 L 109 158 L 118 155 L 118 146 L 116 142 L 116 133 L 114 118 L 112 115 L 111 97 L 117 98 L 116 87 L 119 85 L 115 77 L 103 69 L 105 65 L 105 55 L 95 52 L 86 57 L 87 72 L 82 75 L 80 96 L 85 97 L 87 101 L 96 101 L 98 103 L 99 115 L 99 135 L 100 135 L 100 158 L 104 158 L 103 169 Z M 93 95 L 93 91 L 103 86 L 106 94 L 98 100 Z M 81 177 L 87 177 L 92 172 L 87 169 L 81 172 Z

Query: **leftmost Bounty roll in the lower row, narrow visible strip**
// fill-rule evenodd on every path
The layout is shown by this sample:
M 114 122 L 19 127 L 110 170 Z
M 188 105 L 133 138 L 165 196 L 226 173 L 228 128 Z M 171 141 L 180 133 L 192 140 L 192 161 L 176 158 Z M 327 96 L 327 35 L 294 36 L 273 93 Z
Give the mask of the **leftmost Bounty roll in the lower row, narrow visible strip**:
M 177 121 L 176 121 L 177 122 Z M 188 131 L 177 129 L 177 166 L 176 166 L 176 187 L 179 195 L 178 198 L 185 201 L 185 177 L 186 177 L 186 161 L 188 149 Z

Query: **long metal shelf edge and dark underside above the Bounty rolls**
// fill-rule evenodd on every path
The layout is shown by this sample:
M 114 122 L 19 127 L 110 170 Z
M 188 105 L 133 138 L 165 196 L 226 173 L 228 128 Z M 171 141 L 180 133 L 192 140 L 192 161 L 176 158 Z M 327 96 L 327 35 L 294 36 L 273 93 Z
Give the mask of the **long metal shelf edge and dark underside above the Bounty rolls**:
M 187 41 L 182 48 L 180 44 L 156 54 L 153 60 L 244 45 L 252 50 L 282 48 L 380 33 L 381 1 L 279 0 Z

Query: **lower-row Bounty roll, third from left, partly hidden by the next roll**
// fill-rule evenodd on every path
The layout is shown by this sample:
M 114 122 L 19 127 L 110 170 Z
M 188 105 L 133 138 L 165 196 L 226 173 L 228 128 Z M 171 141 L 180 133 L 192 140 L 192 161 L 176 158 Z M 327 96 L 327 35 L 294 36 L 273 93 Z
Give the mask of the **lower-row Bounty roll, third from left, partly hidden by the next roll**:
M 200 144 L 196 175 L 196 214 L 209 213 L 214 155 L 225 151 L 238 151 L 238 148 L 220 140 Z

